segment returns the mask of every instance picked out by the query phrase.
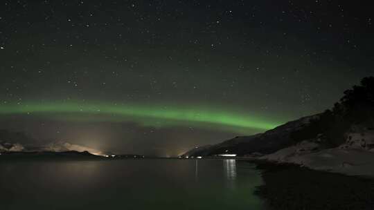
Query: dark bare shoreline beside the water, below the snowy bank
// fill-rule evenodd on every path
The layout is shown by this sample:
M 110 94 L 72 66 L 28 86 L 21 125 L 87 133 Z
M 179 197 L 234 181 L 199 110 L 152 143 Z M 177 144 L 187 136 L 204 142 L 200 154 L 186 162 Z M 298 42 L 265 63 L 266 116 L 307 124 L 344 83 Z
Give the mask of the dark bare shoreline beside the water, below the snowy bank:
M 260 163 L 264 185 L 256 194 L 276 210 L 374 209 L 374 180 Z

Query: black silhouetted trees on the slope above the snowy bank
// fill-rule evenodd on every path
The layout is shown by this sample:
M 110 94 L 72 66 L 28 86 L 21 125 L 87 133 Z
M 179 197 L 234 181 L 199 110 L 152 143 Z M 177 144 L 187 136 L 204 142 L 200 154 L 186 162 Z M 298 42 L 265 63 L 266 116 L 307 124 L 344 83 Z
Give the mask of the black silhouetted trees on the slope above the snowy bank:
M 326 147 L 344 143 L 344 133 L 355 125 L 368 129 L 374 125 L 374 77 L 365 77 L 359 86 L 344 91 L 344 96 L 334 107 L 321 113 L 308 126 L 291 133 L 292 140 L 308 140 L 320 137 Z

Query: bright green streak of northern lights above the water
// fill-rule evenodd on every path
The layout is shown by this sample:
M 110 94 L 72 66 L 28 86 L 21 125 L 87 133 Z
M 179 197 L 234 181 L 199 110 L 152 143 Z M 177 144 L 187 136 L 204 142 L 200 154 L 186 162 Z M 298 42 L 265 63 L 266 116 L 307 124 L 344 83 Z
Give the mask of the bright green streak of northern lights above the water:
M 132 121 L 147 126 L 170 126 L 183 124 L 193 126 L 196 124 L 212 124 L 217 128 L 227 131 L 241 131 L 253 129 L 266 131 L 279 125 L 253 119 L 248 115 L 225 113 L 224 111 L 202 110 L 195 108 L 154 108 L 141 105 L 93 105 L 93 104 L 26 104 L 0 106 L 0 114 L 30 115 L 32 113 L 71 114 L 71 115 L 111 115 L 114 121 Z M 84 120 L 84 118 L 81 118 Z M 87 118 L 91 121 L 100 121 L 101 117 Z M 105 120 L 111 121 L 110 118 Z M 166 122 L 164 122 L 166 120 Z M 170 121 L 170 122 L 168 122 Z M 226 127 L 226 128 L 225 128 Z M 241 133 L 240 132 L 240 133 Z

